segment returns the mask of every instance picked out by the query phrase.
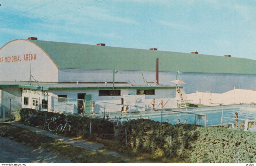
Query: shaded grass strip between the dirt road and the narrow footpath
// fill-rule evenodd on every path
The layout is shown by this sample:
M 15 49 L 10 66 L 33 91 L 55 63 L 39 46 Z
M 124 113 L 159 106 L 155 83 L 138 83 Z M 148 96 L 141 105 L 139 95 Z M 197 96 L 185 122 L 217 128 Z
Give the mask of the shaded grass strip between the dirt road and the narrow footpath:
M 6 123 L 0 123 L 0 136 L 6 137 L 17 142 L 24 143 L 35 149 L 41 148 L 48 152 L 53 152 L 71 162 L 125 162 L 122 158 L 103 154 L 102 151 L 89 151 L 80 147 L 64 144 L 45 135 L 39 135 L 35 132 L 12 126 Z

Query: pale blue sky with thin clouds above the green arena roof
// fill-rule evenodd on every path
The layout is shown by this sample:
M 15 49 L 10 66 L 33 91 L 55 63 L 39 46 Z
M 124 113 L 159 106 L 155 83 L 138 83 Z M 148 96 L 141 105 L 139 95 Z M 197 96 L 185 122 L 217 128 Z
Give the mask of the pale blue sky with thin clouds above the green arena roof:
M 0 0 L 0 47 L 38 40 L 256 60 L 255 0 Z

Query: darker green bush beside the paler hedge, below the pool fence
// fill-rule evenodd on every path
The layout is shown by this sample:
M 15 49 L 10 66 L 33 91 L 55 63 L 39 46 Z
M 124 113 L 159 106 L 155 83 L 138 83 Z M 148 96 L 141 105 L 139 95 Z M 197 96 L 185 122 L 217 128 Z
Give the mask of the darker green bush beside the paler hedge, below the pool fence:
M 154 155 L 172 155 L 186 159 L 188 158 L 186 154 L 189 154 L 187 151 L 192 151 L 190 144 L 196 141 L 197 127 L 191 124 L 171 125 L 148 119 L 131 120 L 125 122 L 119 130 L 118 140 L 120 144 L 125 144 L 125 129 L 127 129 L 128 147 Z

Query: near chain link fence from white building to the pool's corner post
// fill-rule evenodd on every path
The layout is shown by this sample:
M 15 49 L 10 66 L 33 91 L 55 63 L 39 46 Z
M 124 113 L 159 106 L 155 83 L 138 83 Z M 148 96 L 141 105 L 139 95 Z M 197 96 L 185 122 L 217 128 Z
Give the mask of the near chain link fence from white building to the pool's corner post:
M 92 108 L 92 103 L 95 103 Z M 91 116 L 101 119 L 109 119 L 116 121 L 121 118 L 121 121 L 131 119 L 151 119 L 158 122 L 168 122 L 171 124 L 197 124 L 207 126 L 207 115 L 195 114 L 193 111 L 185 109 L 159 109 L 160 105 L 153 107 L 144 105 L 144 107 L 131 104 L 114 104 L 101 101 L 82 100 L 52 97 L 52 107 L 50 110 L 63 112 L 65 114 L 76 114 L 83 116 Z M 95 114 L 93 114 L 93 112 Z

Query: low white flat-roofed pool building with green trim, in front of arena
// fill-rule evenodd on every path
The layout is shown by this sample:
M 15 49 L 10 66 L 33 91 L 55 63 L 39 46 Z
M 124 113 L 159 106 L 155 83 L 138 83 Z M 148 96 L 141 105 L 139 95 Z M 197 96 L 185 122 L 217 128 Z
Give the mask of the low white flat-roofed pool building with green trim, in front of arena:
M 28 83 L 2 82 L 1 105 L 5 108 L 11 105 L 12 110 L 22 107 L 75 114 L 80 113 L 79 108 L 83 105 L 83 113 L 91 114 L 91 104 L 95 101 L 95 113 L 121 111 L 120 108 L 124 111 L 123 105 L 136 112 L 145 111 L 145 105 L 152 107 L 150 103 L 154 98 L 156 108 L 160 108 L 160 100 L 165 108 L 170 108 L 176 96 L 175 87 L 164 85 L 116 83 L 113 90 L 110 83 Z

